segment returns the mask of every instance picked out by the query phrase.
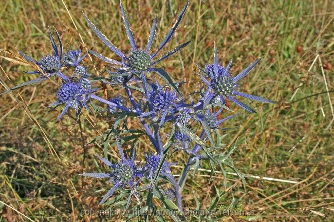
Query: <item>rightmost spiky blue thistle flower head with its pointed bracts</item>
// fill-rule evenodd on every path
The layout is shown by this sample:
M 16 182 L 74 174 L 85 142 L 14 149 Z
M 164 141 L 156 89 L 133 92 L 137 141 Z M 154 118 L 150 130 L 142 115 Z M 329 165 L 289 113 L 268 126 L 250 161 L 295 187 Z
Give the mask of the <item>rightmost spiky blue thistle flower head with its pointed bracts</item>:
M 218 100 L 217 97 L 220 98 L 220 103 L 225 104 L 225 98 L 229 98 L 233 103 L 238 105 L 239 107 L 252 112 L 256 113 L 252 108 L 247 106 L 246 104 L 240 102 L 235 98 L 235 96 L 243 96 L 248 99 L 256 100 L 262 103 L 275 103 L 272 100 L 249 95 L 246 93 L 242 93 L 238 91 L 238 85 L 236 84 L 237 81 L 247 75 L 261 60 L 261 58 L 256 59 L 256 61 L 248 66 L 246 69 L 244 69 L 242 72 L 240 72 L 235 77 L 232 77 L 229 73 L 232 59 L 230 60 L 227 67 L 222 67 L 218 63 L 218 53 L 216 45 L 214 46 L 214 63 L 211 65 L 206 66 L 205 69 L 200 68 L 200 70 L 205 73 L 205 76 L 201 75 L 202 81 L 208 86 L 209 90 L 207 94 L 205 95 L 204 100 L 207 101 L 207 103 L 210 103 L 212 99 L 215 99 L 213 101 L 213 104 L 217 105 Z M 209 77 L 209 80 L 206 79 L 206 77 Z

